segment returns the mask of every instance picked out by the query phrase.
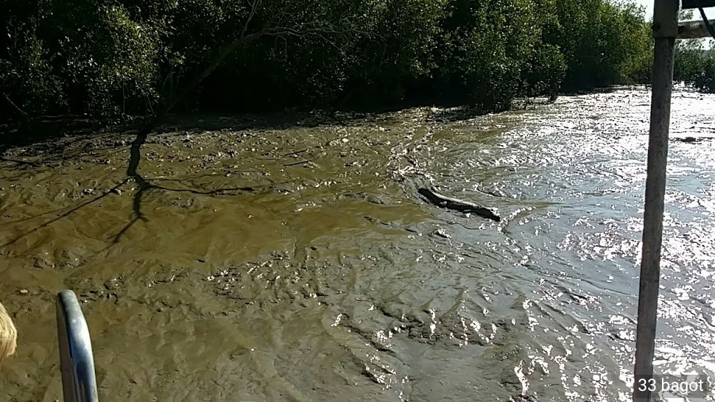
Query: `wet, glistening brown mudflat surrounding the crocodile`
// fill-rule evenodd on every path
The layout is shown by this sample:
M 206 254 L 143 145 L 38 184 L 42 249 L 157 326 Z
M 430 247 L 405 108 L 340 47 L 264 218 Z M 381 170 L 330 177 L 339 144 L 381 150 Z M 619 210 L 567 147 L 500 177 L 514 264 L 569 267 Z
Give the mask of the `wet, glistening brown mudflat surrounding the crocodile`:
M 157 134 L 139 202 L 131 137 L 10 149 L 34 165 L 0 162 L 0 399 L 61 399 L 71 289 L 101 401 L 626 401 L 649 96 Z M 715 97 L 672 116 L 711 137 Z M 656 373 L 715 378 L 715 142 L 670 147 Z

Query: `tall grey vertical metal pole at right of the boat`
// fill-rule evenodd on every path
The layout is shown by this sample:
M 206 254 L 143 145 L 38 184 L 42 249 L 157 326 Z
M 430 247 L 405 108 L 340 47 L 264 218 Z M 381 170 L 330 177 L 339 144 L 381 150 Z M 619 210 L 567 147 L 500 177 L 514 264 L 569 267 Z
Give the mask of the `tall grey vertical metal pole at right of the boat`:
M 651 401 L 649 384 L 653 376 L 653 355 L 658 318 L 658 290 L 661 275 L 661 241 L 668 162 L 671 93 L 675 39 L 678 35 L 679 0 L 655 0 L 653 12 L 653 93 L 651 129 L 648 143 L 646 211 L 643 222 L 641 285 L 638 294 L 638 330 L 636 334 L 636 381 L 633 401 Z

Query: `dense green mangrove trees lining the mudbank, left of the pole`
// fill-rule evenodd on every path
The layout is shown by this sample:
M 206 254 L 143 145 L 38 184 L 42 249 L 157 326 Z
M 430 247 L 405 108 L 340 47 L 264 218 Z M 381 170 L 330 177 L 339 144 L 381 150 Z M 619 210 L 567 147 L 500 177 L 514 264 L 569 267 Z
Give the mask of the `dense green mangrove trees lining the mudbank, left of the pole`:
M 152 114 L 187 86 L 178 108 L 503 109 L 652 58 L 643 11 L 608 0 L 5 0 L 0 26 L 14 116 Z

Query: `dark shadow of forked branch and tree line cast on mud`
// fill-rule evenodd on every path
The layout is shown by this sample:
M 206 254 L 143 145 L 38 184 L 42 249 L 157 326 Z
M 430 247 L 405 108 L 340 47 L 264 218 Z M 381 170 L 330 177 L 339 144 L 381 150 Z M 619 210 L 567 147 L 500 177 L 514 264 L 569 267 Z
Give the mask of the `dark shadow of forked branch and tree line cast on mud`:
M 455 106 L 454 104 L 452 106 Z M 57 220 L 61 220 L 83 207 L 92 205 L 111 193 L 121 192 L 120 187 L 134 184 L 137 192 L 132 195 L 132 218 L 113 236 L 112 244 L 117 244 L 119 239 L 137 221 L 147 221 L 142 210 L 142 201 L 150 192 L 162 190 L 166 192 L 190 192 L 195 195 L 240 195 L 254 192 L 260 186 L 240 186 L 230 188 L 214 189 L 174 189 L 164 187 L 157 183 L 157 180 L 144 177 L 140 173 L 142 157 L 142 147 L 145 144 L 162 144 L 173 147 L 182 142 L 188 141 L 186 137 L 204 134 L 206 132 L 242 132 L 253 131 L 262 135 L 262 130 L 284 130 L 295 128 L 313 128 L 325 126 L 371 126 L 382 124 L 393 119 L 395 113 L 406 110 L 408 107 L 419 107 L 415 104 L 399 104 L 393 107 L 382 107 L 352 111 L 314 111 L 306 112 L 297 109 L 280 113 L 269 114 L 171 114 L 163 119 L 151 132 L 140 132 L 139 124 L 136 123 L 114 124 L 99 127 L 99 124 L 79 117 L 36 119 L 24 122 L 24 126 L 18 127 L 12 124 L 2 124 L 0 126 L 0 163 L 6 162 L 15 166 L 46 167 L 53 168 L 71 160 L 92 158 L 107 152 L 117 152 L 117 149 L 129 148 L 129 158 L 127 160 L 127 170 L 124 179 L 112 186 L 102 194 L 83 202 L 77 207 L 59 214 L 53 219 L 44 222 L 32 230 L 21 233 L 14 239 L 6 242 L 4 246 L 36 232 Z M 432 107 L 428 109 L 425 119 L 427 122 L 455 122 L 465 119 L 473 119 L 483 115 L 484 112 L 474 107 L 456 106 L 445 108 Z M 290 154 L 289 154 L 290 155 Z M 296 162 L 297 163 L 302 163 Z M 289 164 L 293 165 L 293 164 Z M 132 183 L 134 182 L 134 183 Z M 415 194 L 417 187 L 424 187 L 426 183 L 415 183 Z M 265 190 L 265 189 L 264 189 Z

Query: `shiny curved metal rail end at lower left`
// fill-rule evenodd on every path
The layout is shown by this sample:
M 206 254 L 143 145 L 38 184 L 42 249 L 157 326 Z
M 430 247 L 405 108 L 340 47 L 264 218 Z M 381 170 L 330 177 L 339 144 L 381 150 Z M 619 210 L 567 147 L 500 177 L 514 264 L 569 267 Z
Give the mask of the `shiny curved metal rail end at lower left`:
M 71 290 L 57 294 L 57 338 L 64 402 L 98 402 L 89 327 Z

